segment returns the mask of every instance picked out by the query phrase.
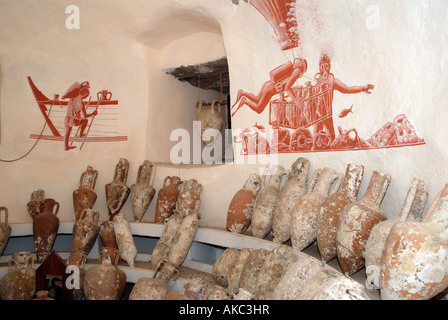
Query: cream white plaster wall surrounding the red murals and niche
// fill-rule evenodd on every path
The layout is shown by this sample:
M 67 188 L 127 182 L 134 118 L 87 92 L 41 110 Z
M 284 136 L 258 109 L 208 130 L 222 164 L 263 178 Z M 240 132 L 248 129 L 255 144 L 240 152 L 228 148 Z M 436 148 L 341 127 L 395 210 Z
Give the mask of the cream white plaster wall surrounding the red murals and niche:
M 68 4 L 0 1 L 1 158 L 18 157 L 27 151 L 34 142 L 29 134 L 39 132 L 43 124 L 26 83 L 27 75 L 49 95 L 62 94 L 73 81 L 85 79 L 95 88 L 107 87 L 119 99 L 123 112 L 120 131 L 129 141 L 86 144 L 82 152 L 73 153 L 43 141 L 27 158 L 0 163 L 0 204 L 10 209 L 11 222 L 31 221 L 25 205 L 37 188 L 61 202 L 62 219 L 73 220 L 71 193 L 87 165 L 100 171 L 95 207 L 106 218 L 104 185 L 112 181 L 118 158 L 126 157 L 131 162 L 131 185 L 145 158 L 155 158 L 169 149 L 166 136 L 157 132 L 166 125 L 174 128 L 191 121 L 194 116 L 188 118 L 190 113 L 177 107 L 183 101 L 195 100 L 197 94 L 196 89 L 187 89 L 159 69 L 175 58 L 161 55 L 173 41 L 182 42 L 207 29 L 221 32 L 233 99 L 238 89 L 258 92 L 269 71 L 293 57 L 292 51 L 280 50 L 269 23 L 243 1 L 238 6 L 230 0 L 80 1 L 85 14 L 77 31 L 64 27 Z M 380 24 L 374 29 L 366 27 L 366 9 L 371 5 L 380 12 Z M 414 176 L 425 180 L 431 202 L 448 176 L 444 125 L 448 82 L 443 78 L 447 67 L 447 6 L 443 1 L 298 0 L 305 27 L 303 46 L 294 54 L 308 60 L 306 75 L 313 77 L 321 49 L 325 48 L 333 54 L 332 72 L 336 77 L 349 85 L 375 85 L 371 95 L 335 93 L 334 114 L 351 104 L 356 108 L 350 117 L 335 117 L 335 127 L 355 126 L 360 136 L 366 137 L 404 113 L 426 144 L 280 155 L 278 163 L 289 168 L 296 158 L 305 156 L 312 163 L 311 172 L 323 166 L 344 172 L 348 163 L 363 164 L 366 172 L 360 196 L 373 170 L 388 172 L 392 181 L 383 209 L 389 217 L 400 210 Z M 321 29 L 315 28 L 316 23 Z M 176 112 L 167 106 L 176 107 Z M 267 121 L 266 111 L 256 115 L 243 108 L 232 123 L 234 129 L 244 129 L 255 122 L 267 125 Z M 236 162 L 244 160 L 238 158 Z M 210 167 L 160 165 L 154 187 L 158 190 L 165 176 L 176 173 L 182 179 L 197 179 L 204 186 L 201 225 L 224 227 L 231 198 L 249 173 L 263 167 L 247 162 Z M 155 200 L 144 221 L 151 221 L 154 208 Z M 123 211 L 131 219 L 129 201 Z

